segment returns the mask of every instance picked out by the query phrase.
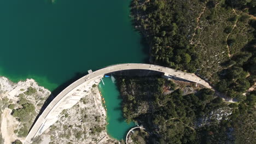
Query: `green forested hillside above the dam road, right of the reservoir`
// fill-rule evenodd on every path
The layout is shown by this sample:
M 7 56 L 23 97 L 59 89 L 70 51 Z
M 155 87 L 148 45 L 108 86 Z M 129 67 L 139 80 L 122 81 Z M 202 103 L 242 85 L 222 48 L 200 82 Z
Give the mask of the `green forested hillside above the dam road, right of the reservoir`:
M 256 1 L 138 1 L 135 27 L 150 45 L 150 61 L 209 80 L 231 98 L 255 81 Z

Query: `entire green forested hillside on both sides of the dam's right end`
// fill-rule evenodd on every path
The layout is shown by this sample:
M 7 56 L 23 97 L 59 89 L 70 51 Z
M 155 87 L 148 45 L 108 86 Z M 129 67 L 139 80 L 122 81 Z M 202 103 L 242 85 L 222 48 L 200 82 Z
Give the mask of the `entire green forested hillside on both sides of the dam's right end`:
M 164 79 L 120 77 L 124 117 L 143 124 L 146 130 L 137 134 L 146 143 L 256 143 L 255 5 L 255 0 L 131 2 L 134 26 L 150 46 L 150 63 L 196 73 L 218 93 L 200 89 L 184 95 Z

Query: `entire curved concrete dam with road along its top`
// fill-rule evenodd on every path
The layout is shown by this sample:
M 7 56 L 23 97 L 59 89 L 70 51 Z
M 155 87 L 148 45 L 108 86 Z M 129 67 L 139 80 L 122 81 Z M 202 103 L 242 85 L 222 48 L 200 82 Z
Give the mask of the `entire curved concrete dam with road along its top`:
M 85 75 L 79 80 L 73 82 L 61 93 L 59 93 L 53 101 L 46 107 L 42 115 L 39 116 L 37 121 L 34 123 L 32 129 L 28 133 L 24 143 L 32 143 L 32 139 L 35 136 L 41 135 L 46 129 L 53 125 L 60 116 L 60 113 L 69 109 L 87 94 L 87 91 L 95 83 L 100 82 L 100 79 L 108 73 L 120 70 L 131 70 L 131 69 L 144 69 L 154 70 L 163 73 L 163 76 L 168 78 L 172 77 L 175 79 L 181 79 L 185 81 L 200 83 L 202 86 L 211 88 L 211 86 L 204 80 L 200 79 L 194 74 L 184 73 L 183 71 L 162 67 L 153 64 L 142 64 L 142 63 L 126 63 L 111 65 L 106 68 L 102 68 L 96 71 L 88 71 L 90 74 Z

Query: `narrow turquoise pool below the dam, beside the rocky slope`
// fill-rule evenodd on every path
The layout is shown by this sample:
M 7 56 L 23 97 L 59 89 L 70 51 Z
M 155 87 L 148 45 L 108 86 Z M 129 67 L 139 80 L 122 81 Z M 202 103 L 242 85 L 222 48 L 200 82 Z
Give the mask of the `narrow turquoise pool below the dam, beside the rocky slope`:
M 106 101 L 107 107 L 107 132 L 117 140 L 125 140 L 127 131 L 135 127 L 135 123 L 126 123 L 123 117 L 122 98 L 118 87 L 113 82 L 113 77 L 104 77 L 103 83 L 98 86 Z

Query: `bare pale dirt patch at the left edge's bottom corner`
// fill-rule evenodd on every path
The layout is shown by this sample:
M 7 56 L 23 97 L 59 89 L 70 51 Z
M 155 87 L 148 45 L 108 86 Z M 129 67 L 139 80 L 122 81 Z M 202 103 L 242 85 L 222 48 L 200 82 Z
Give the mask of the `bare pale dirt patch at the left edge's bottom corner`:
M 2 136 L 4 138 L 4 144 L 10 144 L 15 141 L 15 135 L 13 131 L 19 123 L 15 121 L 15 118 L 10 115 L 11 110 L 5 108 L 3 112 L 3 119 L 1 124 Z

